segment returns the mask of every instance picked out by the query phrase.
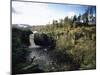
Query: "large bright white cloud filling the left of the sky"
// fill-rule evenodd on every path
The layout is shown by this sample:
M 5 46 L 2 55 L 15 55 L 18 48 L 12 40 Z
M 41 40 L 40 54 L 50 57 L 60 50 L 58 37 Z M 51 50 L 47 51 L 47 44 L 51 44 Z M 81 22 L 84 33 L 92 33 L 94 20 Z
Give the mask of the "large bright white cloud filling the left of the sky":
M 12 14 L 13 24 L 45 25 L 64 17 L 63 13 L 50 9 L 44 3 L 12 2 L 12 7 L 19 12 Z

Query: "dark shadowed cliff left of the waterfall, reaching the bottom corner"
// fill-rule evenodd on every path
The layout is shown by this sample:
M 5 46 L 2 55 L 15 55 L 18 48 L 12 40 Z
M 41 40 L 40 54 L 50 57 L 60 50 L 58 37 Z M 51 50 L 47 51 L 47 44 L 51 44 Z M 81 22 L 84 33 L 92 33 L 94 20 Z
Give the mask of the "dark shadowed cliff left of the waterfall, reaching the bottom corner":
M 12 73 L 19 72 L 19 68 L 22 67 L 19 64 L 26 62 L 29 54 L 30 34 L 32 32 L 29 29 L 12 27 Z

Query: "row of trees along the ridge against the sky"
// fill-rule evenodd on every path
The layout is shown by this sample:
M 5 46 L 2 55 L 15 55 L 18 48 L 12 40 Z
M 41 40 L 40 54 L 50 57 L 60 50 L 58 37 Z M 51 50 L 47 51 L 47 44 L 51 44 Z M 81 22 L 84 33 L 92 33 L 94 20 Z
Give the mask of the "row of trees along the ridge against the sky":
M 73 25 L 73 23 L 84 23 L 87 25 L 92 25 L 96 23 L 96 7 L 88 6 L 83 14 L 74 15 L 72 18 L 66 16 L 64 19 L 53 20 L 52 25 L 56 27 Z

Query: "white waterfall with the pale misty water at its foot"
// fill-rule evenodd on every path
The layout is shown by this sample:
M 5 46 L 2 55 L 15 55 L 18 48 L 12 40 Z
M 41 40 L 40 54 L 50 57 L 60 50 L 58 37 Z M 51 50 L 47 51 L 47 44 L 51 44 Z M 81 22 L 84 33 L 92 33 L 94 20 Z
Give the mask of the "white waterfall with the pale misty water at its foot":
M 35 42 L 34 42 L 34 32 L 33 34 L 30 34 L 29 36 L 29 41 L 30 41 L 30 50 L 31 50 L 31 53 L 29 54 L 28 56 L 28 61 L 31 60 L 31 58 L 33 58 L 34 56 L 36 57 L 36 60 L 37 63 L 39 63 L 39 65 L 46 65 L 47 63 L 51 62 L 51 59 L 49 57 L 49 54 L 47 51 L 44 50 L 44 48 L 41 48 L 40 46 L 38 45 L 35 45 Z

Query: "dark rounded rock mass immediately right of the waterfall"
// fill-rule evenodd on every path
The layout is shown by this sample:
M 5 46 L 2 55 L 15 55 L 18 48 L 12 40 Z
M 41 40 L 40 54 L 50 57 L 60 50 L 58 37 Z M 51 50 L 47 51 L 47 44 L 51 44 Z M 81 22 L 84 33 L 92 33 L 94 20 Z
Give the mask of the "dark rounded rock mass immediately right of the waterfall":
M 39 45 L 42 47 L 54 48 L 56 45 L 54 38 L 44 33 L 35 33 L 34 42 L 36 45 Z

